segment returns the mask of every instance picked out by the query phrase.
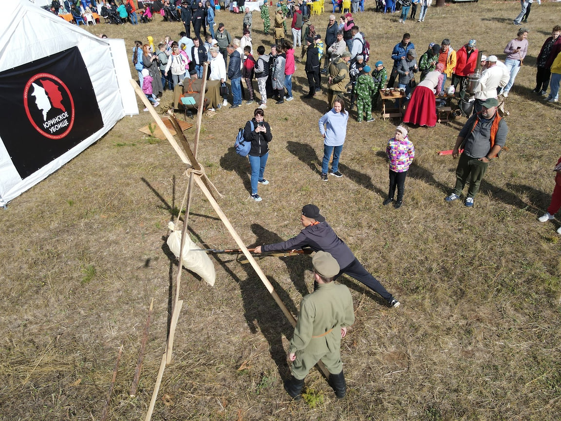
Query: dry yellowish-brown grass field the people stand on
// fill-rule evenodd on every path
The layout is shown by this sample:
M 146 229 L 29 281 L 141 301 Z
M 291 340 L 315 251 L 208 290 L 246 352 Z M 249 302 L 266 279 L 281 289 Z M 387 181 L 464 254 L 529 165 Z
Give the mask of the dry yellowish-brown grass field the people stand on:
M 426 21 L 367 11 L 355 22 L 371 61 L 391 67 L 404 32 L 422 54 L 443 38 L 454 49 L 477 39 L 504 60 L 516 36 L 518 2 L 431 7 Z M 235 255 L 211 257 L 214 287 L 183 271 L 184 300 L 174 361 L 164 373 L 154 420 L 549 420 L 561 418 L 561 250 L 559 221 L 537 221 L 549 204 L 560 153 L 560 109 L 531 92 L 535 58 L 559 21 L 559 3 L 534 3 L 525 66 L 507 99 L 508 151 L 491 163 L 475 207 L 445 203 L 456 163 L 451 149 L 465 118 L 415 128 L 417 156 L 401 209 L 383 207 L 385 144 L 399 121 L 357 123 L 351 113 L 340 170 L 321 182 L 317 121 L 297 64 L 295 100 L 270 103 L 273 130 L 263 202 L 249 199 L 249 164 L 233 152 L 253 106 L 204 118 L 199 159 L 224 195 L 220 207 L 248 246 L 300 231 L 302 205 L 315 203 L 356 256 L 401 301 L 389 309 L 351 278 L 356 323 L 342 344 L 349 391 L 334 399 L 318 370 L 306 401 L 283 390 L 292 328 L 254 270 Z M 329 13 L 312 17 L 324 34 Z M 242 15 L 220 11 L 233 36 Z M 253 45 L 269 46 L 254 12 Z M 135 39 L 183 30 L 157 15 L 147 25 L 98 25 L 91 33 Z M 297 49 L 299 54 L 300 49 Z M 132 67 L 131 67 L 132 69 Z M 324 86 L 325 81 L 323 80 Z M 165 92 L 162 104 L 171 102 Z M 142 106 L 141 106 L 142 108 Z M 182 116 L 181 116 L 182 117 Z M 182 117 L 183 118 L 183 117 Z M 167 141 L 137 129 L 148 113 L 123 118 L 98 143 L 0 211 L 0 419 L 98 420 L 121 343 L 110 420 L 144 419 L 165 347 L 177 262 L 165 245 L 186 189 L 185 168 Z M 186 132 L 192 140 L 195 129 Z M 235 246 L 199 189 L 189 217 L 202 247 Z M 310 257 L 265 258 L 261 268 L 297 314 L 312 290 Z M 128 396 L 151 299 L 154 312 L 139 391 Z M 162 397 L 168 395 L 169 405 Z

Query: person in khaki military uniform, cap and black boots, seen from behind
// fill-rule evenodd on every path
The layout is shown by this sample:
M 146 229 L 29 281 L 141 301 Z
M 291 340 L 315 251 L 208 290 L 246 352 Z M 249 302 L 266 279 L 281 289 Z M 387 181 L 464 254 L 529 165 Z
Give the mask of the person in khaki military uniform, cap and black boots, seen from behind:
M 292 377 L 284 382 L 284 389 L 295 400 L 301 399 L 304 378 L 321 360 L 330 373 L 329 382 L 335 396 L 341 399 L 347 391 L 341 339 L 347 335 L 347 327 L 355 322 L 351 292 L 346 286 L 333 282 L 340 268 L 330 253 L 318 251 L 312 258 L 312 266 L 318 289 L 306 295 L 300 304 L 288 349 Z

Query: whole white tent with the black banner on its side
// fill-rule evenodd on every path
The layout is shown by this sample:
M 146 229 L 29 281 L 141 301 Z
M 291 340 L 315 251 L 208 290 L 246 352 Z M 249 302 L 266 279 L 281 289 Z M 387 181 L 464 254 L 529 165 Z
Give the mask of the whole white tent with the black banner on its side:
M 28 0 L 0 14 L 0 205 L 76 157 L 138 107 L 123 40 L 100 39 Z

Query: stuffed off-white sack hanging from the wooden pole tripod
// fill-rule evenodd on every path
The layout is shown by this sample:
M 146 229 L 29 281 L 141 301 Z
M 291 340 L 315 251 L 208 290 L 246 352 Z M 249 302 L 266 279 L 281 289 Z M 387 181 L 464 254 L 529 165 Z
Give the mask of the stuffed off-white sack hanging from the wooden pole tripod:
M 177 231 L 174 228 L 173 222 L 168 224 L 172 233 L 168 237 L 168 246 L 173 254 L 179 258 L 179 252 L 181 249 L 181 231 Z M 185 245 L 183 245 L 183 267 L 195 272 L 201 278 L 205 280 L 210 286 L 214 286 L 214 281 L 216 280 L 216 271 L 214 270 L 214 265 L 210 261 L 206 251 L 194 251 L 199 249 L 194 242 L 187 236 L 185 238 Z

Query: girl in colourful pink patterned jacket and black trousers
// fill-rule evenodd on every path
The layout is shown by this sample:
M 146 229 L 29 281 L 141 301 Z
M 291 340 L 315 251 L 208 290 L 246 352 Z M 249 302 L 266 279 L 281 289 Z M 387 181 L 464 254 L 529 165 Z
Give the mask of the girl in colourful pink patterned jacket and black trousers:
M 407 170 L 413 158 L 415 158 L 415 148 L 413 148 L 413 143 L 411 143 L 407 136 L 407 129 L 405 127 L 396 127 L 396 134 L 392 139 L 388 140 L 386 154 L 389 159 L 389 192 L 388 198 L 384 200 L 383 204 L 389 205 L 393 202 L 397 186 L 397 200 L 393 207 L 398 209 L 401 207 L 403 200 Z

